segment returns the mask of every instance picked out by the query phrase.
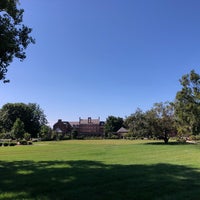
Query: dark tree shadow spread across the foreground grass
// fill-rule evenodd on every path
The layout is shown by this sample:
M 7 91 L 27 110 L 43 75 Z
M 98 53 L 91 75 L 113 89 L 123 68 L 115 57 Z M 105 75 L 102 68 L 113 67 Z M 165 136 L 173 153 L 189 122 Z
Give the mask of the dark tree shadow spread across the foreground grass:
M 0 199 L 198 199 L 200 173 L 179 165 L 0 161 Z

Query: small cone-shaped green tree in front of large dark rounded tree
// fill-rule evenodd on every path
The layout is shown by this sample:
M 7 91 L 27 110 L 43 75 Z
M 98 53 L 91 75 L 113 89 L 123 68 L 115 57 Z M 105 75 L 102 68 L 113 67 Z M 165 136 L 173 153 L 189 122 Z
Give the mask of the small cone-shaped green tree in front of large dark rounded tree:
M 25 133 L 24 130 L 24 123 L 19 118 L 16 119 L 15 123 L 13 124 L 12 135 L 17 139 L 22 139 Z

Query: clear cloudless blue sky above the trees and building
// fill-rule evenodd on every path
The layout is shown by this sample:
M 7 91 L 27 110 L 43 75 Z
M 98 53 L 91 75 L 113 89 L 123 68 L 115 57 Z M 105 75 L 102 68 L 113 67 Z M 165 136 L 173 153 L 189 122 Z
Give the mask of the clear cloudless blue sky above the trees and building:
M 21 0 L 36 44 L 9 67 L 0 106 L 38 103 L 61 118 L 125 117 L 173 101 L 200 72 L 199 0 Z

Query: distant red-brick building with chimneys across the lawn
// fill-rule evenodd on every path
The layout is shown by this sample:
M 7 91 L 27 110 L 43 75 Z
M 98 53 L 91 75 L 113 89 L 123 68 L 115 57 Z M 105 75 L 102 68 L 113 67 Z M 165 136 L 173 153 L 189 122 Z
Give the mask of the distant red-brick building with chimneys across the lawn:
M 58 120 L 57 123 L 54 124 L 53 130 L 62 131 L 62 133 L 70 133 L 72 129 L 75 129 L 78 132 L 78 135 L 83 136 L 103 136 L 104 135 L 104 125 L 105 122 L 100 121 L 98 119 L 92 119 L 88 117 L 87 119 L 79 118 L 79 121 L 75 122 L 67 122 Z

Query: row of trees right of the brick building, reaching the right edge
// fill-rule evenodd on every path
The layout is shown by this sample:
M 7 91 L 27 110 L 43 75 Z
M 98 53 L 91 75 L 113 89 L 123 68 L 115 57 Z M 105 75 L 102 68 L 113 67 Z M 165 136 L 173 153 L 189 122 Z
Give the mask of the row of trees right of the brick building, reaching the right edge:
M 122 118 L 109 116 L 105 132 L 116 131 L 116 124 L 129 130 L 125 137 L 159 138 L 165 143 L 171 136 L 200 138 L 200 75 L 192 70 L 180 79 L 182 86 L 174 102 L 155 103 L 150 110 L 138 108 L 122 123 Z M 116 123 L 117 122 L 117 123 Z

